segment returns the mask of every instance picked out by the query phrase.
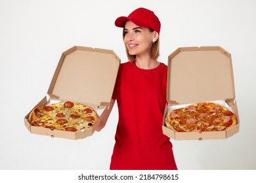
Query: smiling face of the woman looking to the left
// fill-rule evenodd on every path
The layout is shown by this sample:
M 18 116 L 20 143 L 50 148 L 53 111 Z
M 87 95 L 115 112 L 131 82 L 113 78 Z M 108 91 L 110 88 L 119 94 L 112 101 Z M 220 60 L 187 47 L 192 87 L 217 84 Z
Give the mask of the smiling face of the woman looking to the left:
M 130 55 L 150 55 L 150 48 L 153 44 L 153 39 L 156 37 L 156 31 L 150 32 L 150 29 L 139 27 L 128 20 L 125 23 L 124 33 L 123 41 Z

